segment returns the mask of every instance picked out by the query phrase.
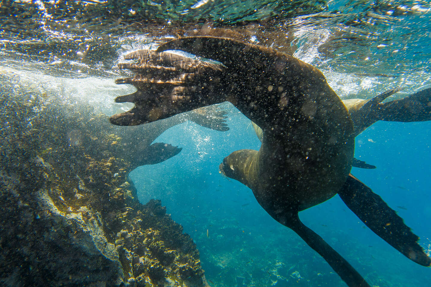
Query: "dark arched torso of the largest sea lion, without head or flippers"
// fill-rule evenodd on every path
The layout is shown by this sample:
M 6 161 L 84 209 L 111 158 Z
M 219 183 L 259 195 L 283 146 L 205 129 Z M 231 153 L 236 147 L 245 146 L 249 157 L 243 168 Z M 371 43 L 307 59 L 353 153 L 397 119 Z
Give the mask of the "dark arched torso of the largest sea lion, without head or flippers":
M 230 72 L 223 79 L 227 84 L 211 90 L 211 97 L 203 103 L 229 100 L 265 134 L 256 159 L 265 168 L 256 171 L 256 183 L 248 183 L 255 186 L 253 192 L 265 210 L 283 221 L 280 210 L 287 202 L 303 210 L 334 196 L 350 173 L 353 125 L 322 72 L 267 47 L 225 39 L 217 43 L 212 38 L 200 40 L 198 45 L 208 51 L 205 56 L 223 58 Z M 212 44 L 226 49 L 212 49 Z M 162 45 L 158 51 L 166 48 Z M 203 103 L 197 100 L 191 105 Z

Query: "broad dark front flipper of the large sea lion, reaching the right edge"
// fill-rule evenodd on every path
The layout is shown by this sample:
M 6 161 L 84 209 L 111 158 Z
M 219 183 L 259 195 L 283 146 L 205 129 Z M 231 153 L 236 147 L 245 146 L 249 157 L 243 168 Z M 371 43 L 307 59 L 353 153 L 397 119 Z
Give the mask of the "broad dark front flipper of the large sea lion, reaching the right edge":
M 424 266 L 431 265 L 431 258 L 417 243 L 418 236 L 369 187 L 350 174 L 338 194 L 347 207 L 380 238 L 412 261 Z

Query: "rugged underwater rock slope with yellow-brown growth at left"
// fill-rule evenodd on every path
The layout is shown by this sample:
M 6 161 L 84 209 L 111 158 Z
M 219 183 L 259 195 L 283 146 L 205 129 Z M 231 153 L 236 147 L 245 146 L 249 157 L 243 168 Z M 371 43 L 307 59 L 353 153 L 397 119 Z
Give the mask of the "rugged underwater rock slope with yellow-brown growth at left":
M 136 133 L 13 70 L 0 83 L 2 286 L 208 286 L 181 225 L 137 200 Z

